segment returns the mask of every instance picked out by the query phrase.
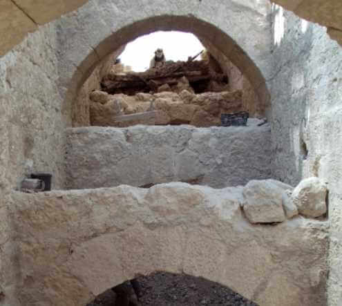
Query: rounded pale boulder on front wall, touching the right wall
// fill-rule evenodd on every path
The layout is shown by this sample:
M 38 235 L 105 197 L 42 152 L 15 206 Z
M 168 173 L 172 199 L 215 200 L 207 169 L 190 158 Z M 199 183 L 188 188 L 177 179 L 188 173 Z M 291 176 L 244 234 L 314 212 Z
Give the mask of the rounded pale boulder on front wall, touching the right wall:
M 292 192 L 292 200 L 301 215 L 319 217 L 327 212 L 327 187 L 319 178 L 302 180 Z

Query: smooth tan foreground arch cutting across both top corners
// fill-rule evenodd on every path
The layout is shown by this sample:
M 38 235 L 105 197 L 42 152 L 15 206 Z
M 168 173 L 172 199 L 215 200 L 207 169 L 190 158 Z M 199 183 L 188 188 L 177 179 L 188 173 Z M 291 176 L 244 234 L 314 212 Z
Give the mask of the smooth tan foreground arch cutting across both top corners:
M 39 0 L 12 1 L 3 0 L 0 6 L 0 28 L 3 37 L 0 46 L 0 56 L 8 52 L 13 46 L 26 36 L 27 32 L 37 30 L 39 25 L 47 23 L 60 15 L 75 10 L 86 3 L 86 0 Z M 342 44 L 341 1 L 326 0 L 324 5 L 316 0 L 274 0 L 292 10 L 296 15 L 327 26 L 330 37 Z M 249 5 L 263 6 L 265 1 L 249 1 Z

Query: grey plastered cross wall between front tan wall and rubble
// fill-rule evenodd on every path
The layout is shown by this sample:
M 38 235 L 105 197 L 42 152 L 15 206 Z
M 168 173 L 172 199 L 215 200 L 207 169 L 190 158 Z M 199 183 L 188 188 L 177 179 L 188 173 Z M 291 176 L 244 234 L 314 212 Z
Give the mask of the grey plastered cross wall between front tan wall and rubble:
M 195 128 L 131 126 L 70 128 L 68 189 L 135 187 L 182 181 L 214 188 L 270 178 L 268 124 Z

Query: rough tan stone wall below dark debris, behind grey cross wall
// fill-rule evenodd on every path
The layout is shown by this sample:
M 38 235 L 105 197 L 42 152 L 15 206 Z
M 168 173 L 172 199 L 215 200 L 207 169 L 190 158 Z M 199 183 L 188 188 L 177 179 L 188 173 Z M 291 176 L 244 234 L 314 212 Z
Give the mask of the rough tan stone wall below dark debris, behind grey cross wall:
M 219 126 L 221 113 L 243 111 L 240 90 L 195 95 L 180 87 L 181 95 L 161 92 L 155 95 L 138 93 L 108 95 L 98 90 L 91 93 L 91 124 L 93 126 L 132 126 L 135 124 L 164 125 L 191 124 L 193 126 Z M 184 97 L 184 100 L 182 99 Z M 117 104 L 118 107 L 116 106 Z M 144 111 L 159 111 L 151 120 L 117 122 L 116 115 L 131 115 Z

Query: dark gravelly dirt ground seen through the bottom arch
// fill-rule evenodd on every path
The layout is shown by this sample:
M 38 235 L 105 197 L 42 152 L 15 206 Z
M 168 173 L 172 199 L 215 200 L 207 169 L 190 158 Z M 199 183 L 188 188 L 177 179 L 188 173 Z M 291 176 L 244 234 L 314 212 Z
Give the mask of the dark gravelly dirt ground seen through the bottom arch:
M 137 278 L 141 286 L 141 306 L 258 306 L 240 294 L 204 278 L 157 272 Z M 115 294 L 108 290 L 87 306 L 115 305 Z

